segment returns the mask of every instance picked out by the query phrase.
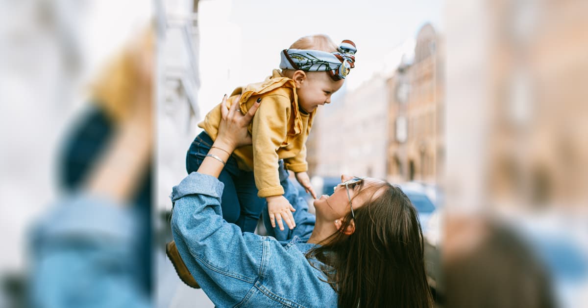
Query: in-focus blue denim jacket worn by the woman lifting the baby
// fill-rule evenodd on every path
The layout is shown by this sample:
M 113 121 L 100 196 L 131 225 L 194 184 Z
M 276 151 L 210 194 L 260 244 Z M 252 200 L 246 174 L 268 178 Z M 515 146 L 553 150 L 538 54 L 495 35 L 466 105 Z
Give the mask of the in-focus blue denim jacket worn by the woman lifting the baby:
M 296 208 L 296 228 L 273 236 L 242 233 L 224 221 L 223 184 L 192 172 L 173 187 L 172 234 L 178 251 L 202 290 L 219 307 L 336 307 L 338 296 L 305 253 L 315 225 L 306 201 L 280 168 L 285 197 Z M 275 236 L 275 237 L 274 237 Z M 319 263 L 312 260 L 316 267 Z

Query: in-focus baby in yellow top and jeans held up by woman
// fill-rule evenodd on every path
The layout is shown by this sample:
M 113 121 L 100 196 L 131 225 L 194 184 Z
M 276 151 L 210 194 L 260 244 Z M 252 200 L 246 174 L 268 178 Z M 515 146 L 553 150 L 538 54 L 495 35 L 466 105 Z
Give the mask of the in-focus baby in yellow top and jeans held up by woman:
M 214 107 L 198 124 L 204 131 L 188 150 L 186 170 L 188 174 L 198 170 L 206 156 L 224 165 L 219 180 L 225 184 L 221 205 L 226 221 L 238 225 L 243 232 L 253 232 L 267 201 L 273 228 L 276 221 L 280 230 L 283 222 L 294 228 L 294 208 L 283 197 L 278 176 L 279 160 L 316 198 L 306 173 L 306 139 L 317 107 L 330 103 L 331 95 L 343 85 L 354 66 L 355 52 L 350 40 L 336 46 L 325 35 L 305 36 L 282 50 L 281 71 L 273 70 L 263 82 L 235 89 L 226 100 L 227 108 L 238 104 L 238 110 L 245 114 L 253 104 L 260 106 L 249 126 L 253 144 L 238 148 L 227 161 L 219 157 L 226 152 L 224 149 L 212 147 L 223 104 Z

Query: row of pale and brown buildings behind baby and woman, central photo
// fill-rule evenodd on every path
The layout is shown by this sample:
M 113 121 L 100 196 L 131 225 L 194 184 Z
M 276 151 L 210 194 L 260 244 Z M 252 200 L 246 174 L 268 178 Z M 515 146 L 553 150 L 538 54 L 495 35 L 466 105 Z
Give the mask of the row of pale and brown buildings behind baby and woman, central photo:
M 392 182 L 436 182 L 445 154 L 445 53 L 430 24 L 414 59 L 377 73 L 319 110 L 307 143 L 310 175 L 368 175 Z

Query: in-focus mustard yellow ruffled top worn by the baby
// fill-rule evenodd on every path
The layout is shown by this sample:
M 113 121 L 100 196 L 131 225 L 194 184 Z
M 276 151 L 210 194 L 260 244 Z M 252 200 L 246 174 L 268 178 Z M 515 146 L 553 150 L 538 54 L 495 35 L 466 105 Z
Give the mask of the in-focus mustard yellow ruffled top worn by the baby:
M 239 101 L 236 101 L 241 94 Z M 261 98 L 259 109 L 249 124 L 253 144 L 233 152 L 239 169 L 251 171 L 255 177 L 258 196 L 265 198 L 282 195 L 284 190 L 278 176 L 278 161 L 284 160 L 286 169 L 293 172 L 308 170 L 306 138 L 312 127 L 315 111 L 299 111 L 294 81 L 283 77 L 279 70 L 263 82 L 238 87 L 227 99 L 227 107 L 239 104 L 243 114 Z M 216 139 L 220 123 L 220 104 L 214 107 L 198 124 L 212 140 Z

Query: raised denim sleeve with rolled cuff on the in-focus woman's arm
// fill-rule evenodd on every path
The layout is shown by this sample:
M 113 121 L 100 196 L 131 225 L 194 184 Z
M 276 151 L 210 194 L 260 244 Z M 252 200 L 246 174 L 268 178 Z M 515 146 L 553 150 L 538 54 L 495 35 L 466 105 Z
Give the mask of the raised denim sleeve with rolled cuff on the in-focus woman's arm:
M 243 300 L 258 279 L 263 238 L 224 221 L 223 188 L 215 177 L 192 172 L 170 197 L 178 252 L 212 302 L 228 307 Z

